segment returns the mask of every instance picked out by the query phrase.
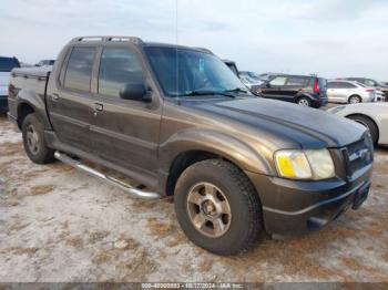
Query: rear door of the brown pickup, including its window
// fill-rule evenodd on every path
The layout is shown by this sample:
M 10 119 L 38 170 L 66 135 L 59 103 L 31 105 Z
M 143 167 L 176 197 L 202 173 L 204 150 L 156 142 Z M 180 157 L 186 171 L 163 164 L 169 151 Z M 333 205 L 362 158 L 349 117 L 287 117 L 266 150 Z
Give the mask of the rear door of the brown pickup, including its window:
M 96 48 L 80 45 L 70 50 L 60 71 L 58 90 L 48 95 L 48 112 L 60 142 L 88 152 Z

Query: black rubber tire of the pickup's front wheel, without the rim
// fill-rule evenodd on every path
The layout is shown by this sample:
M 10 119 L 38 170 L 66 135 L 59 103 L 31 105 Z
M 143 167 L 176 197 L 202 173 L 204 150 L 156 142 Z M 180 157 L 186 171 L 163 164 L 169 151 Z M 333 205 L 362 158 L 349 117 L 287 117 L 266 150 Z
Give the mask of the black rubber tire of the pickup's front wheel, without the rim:
M 228 201 L 229 225 L 219 237 L 203 235 L 190 217 L 187 196 L 198 183 L 215 185 Z M 211 252 L 225 256 L 245 252 L 264 234 L 258 195 L 246 175 L 228 162 L 207 159 L 186 168 L 176 183 L 174 204 L 177 220 L 185 235 L 195 245 Z

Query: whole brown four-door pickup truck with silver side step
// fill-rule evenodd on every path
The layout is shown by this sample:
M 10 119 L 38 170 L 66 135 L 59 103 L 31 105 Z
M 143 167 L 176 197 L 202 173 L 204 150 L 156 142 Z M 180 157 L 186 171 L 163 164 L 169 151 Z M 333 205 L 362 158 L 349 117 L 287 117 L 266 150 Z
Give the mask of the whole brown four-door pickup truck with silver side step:
M 76 38 L 52 70 L 12 71 L 9 110 L 32 162 L 60 159 L 137 198 L 173 196 L 183 231 L 219 255 L 319 229 L 369 191 L 365 127 L 254 96 L 203 49 Z

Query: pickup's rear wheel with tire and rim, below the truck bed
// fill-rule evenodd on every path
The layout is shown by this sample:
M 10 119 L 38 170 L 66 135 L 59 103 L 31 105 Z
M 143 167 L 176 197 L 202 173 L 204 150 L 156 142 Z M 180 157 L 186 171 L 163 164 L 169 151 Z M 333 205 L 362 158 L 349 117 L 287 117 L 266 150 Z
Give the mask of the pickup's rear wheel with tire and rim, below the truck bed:
M 43 124 L 35 114 L 27 115 L 22 124 L 22 133 L 24 151 L 33 163 L 48 164 L 54 160 L 54 151 L 47 146 Z

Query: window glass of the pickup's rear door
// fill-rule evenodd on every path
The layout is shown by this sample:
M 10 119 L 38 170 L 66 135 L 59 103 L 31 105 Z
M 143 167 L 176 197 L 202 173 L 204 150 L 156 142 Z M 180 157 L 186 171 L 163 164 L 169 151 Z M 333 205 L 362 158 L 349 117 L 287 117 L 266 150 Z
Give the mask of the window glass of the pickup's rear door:
M 63 86 L 67 89 L 90 92 L 94 48 L 74 48 L 70 54 Z

